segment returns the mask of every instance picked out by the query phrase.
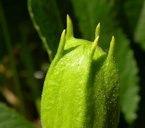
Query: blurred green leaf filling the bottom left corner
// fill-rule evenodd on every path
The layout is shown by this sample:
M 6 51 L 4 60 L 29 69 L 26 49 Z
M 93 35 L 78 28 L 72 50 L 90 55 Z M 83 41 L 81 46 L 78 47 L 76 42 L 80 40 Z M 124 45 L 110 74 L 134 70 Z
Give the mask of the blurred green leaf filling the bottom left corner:
M 0 128 L 35 128 L 13 109 L 0 103 Z

